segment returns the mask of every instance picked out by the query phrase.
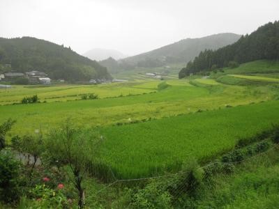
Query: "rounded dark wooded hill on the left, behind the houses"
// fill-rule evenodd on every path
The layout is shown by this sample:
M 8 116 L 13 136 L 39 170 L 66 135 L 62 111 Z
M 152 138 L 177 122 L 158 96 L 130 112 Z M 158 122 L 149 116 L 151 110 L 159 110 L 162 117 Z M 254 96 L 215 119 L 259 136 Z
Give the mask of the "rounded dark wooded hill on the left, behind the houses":
M 71 82 L 111 77 L 107 68 L 70 47 L 31 37 L 0 38 L 0 64 L 10 64 L 16 72 L 38 70 Z

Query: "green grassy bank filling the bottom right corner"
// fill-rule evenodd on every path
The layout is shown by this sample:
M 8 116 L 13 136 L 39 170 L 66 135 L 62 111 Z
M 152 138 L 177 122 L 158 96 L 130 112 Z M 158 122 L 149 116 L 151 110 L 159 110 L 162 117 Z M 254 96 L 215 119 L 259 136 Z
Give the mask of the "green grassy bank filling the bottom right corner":
M 278 160 L 276 148 L 237 164 L 230 175 L 220 171 L 190 203 L 204 208 L 278 208 Z

